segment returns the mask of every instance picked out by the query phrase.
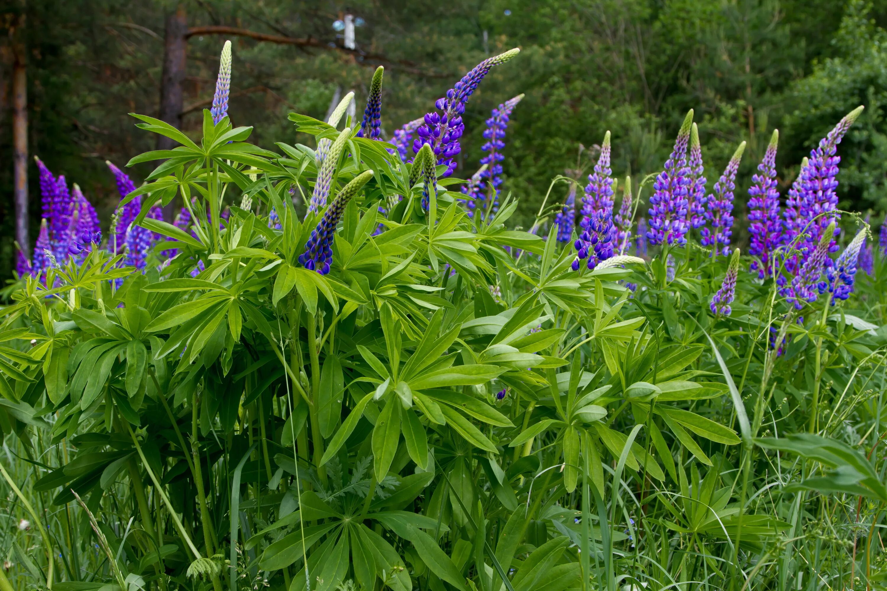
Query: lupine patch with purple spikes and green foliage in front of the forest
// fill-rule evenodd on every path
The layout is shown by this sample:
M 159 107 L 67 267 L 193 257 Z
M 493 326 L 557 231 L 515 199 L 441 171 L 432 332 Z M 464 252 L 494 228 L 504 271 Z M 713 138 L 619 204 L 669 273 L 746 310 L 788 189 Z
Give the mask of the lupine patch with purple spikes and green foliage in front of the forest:
M 887 226 L 837 207 L 848 113 L 786 194 L 773 130 L 716 182 L 691 111 L 662 172 L 561 176 L 509 223 L 507 127 L 456 178 L 488 58 L 381 136 L 227 117 L 109 163 L 37 160 L 43 224 L 0 307 L 0 591 L 887 588 Z M 236 65 L 236 60 L 235 60 Z M 234 68 L 236 74 L 236 67 Z M 174 220 L 161 207 L 181 203 Z M 748 208 L 748 248 L 734 220 Z

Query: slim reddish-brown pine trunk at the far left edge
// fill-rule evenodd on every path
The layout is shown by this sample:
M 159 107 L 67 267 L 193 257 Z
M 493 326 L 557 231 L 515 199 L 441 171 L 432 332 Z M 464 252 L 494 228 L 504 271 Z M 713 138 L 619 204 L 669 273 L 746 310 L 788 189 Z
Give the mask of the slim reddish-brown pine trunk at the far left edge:
M 24 25 L 24 16 L 20 26 Z M 23 35 L 22 35 L 23 36 Z M 14 46 L 12 62 L 12 172 L 15 201 L 15 239 L 26 257 L 30 254 L 27 231 L 27 69 L 23 43 Z

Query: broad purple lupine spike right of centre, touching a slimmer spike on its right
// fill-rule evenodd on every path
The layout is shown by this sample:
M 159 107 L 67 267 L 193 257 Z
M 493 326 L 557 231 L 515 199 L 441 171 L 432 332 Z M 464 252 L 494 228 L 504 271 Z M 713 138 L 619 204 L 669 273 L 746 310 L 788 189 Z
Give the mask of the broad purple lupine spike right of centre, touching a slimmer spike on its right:
M 687 167 L 687 144 L 693 123 L 693 109 L 680 126 L 678 138 L 663 172 L 656 176 L 650 197 L 647 237 L 651 245 L 684 245 L 687 243 L 687 193 L 690 188 Z

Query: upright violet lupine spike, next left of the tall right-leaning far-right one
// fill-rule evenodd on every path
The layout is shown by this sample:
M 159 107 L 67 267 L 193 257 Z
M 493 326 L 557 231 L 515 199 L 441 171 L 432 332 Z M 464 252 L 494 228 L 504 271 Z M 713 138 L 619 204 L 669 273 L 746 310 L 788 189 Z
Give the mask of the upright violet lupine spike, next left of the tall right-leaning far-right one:
M 752 262 L 750 268 L 757 271 L 759 279 L 773 275 L 773 253 L 782 244 L 779 191 L 776 189 L 778 144 L 779 130 L 774 129 L 764 159 L 757 165 L 758 174 L 751 177 L 749 189 L 749 253 L 759 260 Z

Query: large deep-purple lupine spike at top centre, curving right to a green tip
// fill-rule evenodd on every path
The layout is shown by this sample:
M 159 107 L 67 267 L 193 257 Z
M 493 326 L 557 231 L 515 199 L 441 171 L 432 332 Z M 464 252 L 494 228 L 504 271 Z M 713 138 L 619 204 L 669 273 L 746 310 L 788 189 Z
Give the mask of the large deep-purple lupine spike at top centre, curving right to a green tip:
M 504 64 L 518 53 L 520 50 L 514 49 L 484 59 L 473 70 L 462 76 L 462 80 L 456 82 L 453 88 L 447 90 L 445 97 L 438 98 L 435 106 L 443 113 L 432 112 L 425 115 L 425 124 L 416 129 L 419 137 L 412 142 L 412 152 L 419 153 L 422 145 L 431 144 L 431 149 L 437 157 L 437 164 L 447 165 L 443 176 L 451 175 L 456 168 L 454 157 L 461 150 L 459 137 L 465 132 L 462 113 L 465 113 L 468 97 L 471 97 L 493 66 Z

